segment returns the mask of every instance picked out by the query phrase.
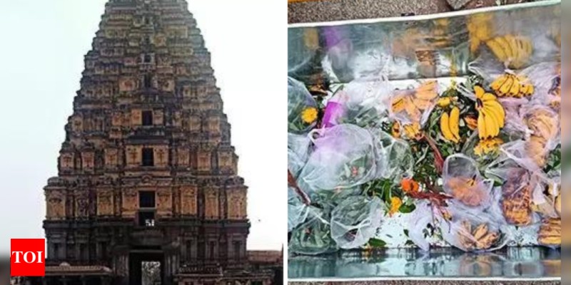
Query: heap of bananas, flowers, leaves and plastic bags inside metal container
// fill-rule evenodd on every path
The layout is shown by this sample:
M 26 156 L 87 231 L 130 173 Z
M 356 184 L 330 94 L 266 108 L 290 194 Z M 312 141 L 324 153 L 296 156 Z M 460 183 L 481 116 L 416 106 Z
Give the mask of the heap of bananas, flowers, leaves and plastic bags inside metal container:
M 542 61 L 544 44 L 500 33 L 490 15 L 469 17 L 467 30 L 485 68 L 463 77 L 288 78 L 290 252 L 560 246 L 560 59 Z M 395 219 L 406 242 L 385 234 Z

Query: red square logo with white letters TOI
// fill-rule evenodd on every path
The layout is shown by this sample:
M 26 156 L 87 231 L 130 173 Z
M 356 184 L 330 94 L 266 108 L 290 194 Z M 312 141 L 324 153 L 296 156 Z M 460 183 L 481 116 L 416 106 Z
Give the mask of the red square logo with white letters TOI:
M 10 240 L 10 276 L 45 276 L 46 240 Z

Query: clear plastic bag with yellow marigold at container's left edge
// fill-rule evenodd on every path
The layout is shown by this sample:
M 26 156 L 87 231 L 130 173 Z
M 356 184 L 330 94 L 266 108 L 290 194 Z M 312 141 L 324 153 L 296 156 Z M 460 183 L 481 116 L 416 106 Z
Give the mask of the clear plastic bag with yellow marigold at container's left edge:
M 307 133 L 317 123 L 317 103 L 305 85 L 288 77 L 288 132 Z

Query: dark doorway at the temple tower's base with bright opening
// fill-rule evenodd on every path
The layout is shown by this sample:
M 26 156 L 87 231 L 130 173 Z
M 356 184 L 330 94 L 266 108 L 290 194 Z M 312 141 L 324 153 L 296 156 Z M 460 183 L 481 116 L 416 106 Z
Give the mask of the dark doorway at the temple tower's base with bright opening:
M 163 253 L 160 250 L 136 250 L 129 254 L 130 285 L 161 285 L 164 282 Z

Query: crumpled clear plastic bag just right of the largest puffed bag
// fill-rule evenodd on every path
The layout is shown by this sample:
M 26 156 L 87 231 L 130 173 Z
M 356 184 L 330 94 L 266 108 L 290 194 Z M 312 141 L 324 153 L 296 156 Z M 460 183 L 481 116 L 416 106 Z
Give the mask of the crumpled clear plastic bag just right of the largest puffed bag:
M 373 134 L 377 154 L 376 178 L 391 179 L 398 183 L 403 178 L 412 177 L 415 162 L 408 142 L 393 138 L 378 128 L 370 129 L 370 133 Z

